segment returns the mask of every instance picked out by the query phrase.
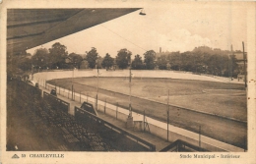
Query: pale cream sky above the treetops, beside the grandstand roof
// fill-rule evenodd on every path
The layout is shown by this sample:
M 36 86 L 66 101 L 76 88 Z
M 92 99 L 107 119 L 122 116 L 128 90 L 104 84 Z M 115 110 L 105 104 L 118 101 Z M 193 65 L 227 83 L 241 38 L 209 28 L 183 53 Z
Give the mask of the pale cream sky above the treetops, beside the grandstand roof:
M 152 1 L 153 2 L 153 1 Z M 198 46 L 242 50 L 246 45 L 246 8 L 229 3 L 147 3 L 146 16 L 140 11 L 53 40 L 38 47 L 49 48 L 55 42 L 67 46 L 69 53 L 85 54 L 92 47 L 100 56 L 115 57 L 127 48 L 135 56 L 147 50 L 190 51 Z M 27 52 L 34 53 L 38 47 Z

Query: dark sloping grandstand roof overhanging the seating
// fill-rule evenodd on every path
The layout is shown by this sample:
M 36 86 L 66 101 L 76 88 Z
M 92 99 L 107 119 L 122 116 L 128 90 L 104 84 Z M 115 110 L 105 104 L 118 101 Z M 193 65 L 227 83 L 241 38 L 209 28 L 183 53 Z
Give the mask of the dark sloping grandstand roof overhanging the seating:
M 8 9 L 7 53 L 25 51 L 139 9 Z

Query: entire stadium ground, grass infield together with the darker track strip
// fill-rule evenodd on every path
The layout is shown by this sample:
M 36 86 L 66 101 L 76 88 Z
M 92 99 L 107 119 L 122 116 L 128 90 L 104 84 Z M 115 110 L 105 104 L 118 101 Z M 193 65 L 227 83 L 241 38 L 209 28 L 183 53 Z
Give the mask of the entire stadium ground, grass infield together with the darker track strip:
M 52 80 L 50 83 L 65 88 L 71 88 L 73 83 L 76 92 L 96 96 L 96 77 Z M 108 103 L 128 107 L 129 79 L 128 78 L 98 78 L 98 99 Z M 79 91 L 78 91 L 79 90 Z M 243 84 L 225 82 L 204 82 L 172 79 L 132 79 L 132 107 L 138 113 L 146 111 L 147 116 L 166 121 L 166 103 L 169 90 L 171 106 L 171 124 L 214 137 L 233 145 L 244 147 L 247 134 L 246 123 L 233 120 L 247 121 L 246 94 Z M 222 117 L 207 116 L 202 111 Z M 224 119 L 231 118 L 233 120 Z M 233 129 L 231 127 L 234 127 Z

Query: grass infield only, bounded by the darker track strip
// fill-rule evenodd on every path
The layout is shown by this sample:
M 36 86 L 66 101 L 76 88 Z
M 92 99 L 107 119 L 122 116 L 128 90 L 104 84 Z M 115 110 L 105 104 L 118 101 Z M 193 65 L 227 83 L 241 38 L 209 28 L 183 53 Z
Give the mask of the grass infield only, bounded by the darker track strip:
M 72 83 L 71 79 L 55 80 L 55 82 L 66 88 Z M 81 87 L 81 85 L 86 84 L 96 88 L 96 78 L 77 78 L 73 82 L 76 90 L 89 92 L 92 96 L 96 95 L 96 89 Z M 128 95 L 129 79 L 99 78 L 98 87 Z M 136 97 L 166 104 L 169 90 L 169 104 L 171 105 L 213 113 L 241 121 L 247 120 L 246 94 L 243 84 L 240 83 L 147 78 L 132 79 L 131 87 L 131 93 Z M 102 93 L 99 97 L 107 97 L 111 101 L 111 96 L 106 93 Z M 116 99 L 116 101 L 118 100 Z M 125 100 L 120 99 L 120 101 Z

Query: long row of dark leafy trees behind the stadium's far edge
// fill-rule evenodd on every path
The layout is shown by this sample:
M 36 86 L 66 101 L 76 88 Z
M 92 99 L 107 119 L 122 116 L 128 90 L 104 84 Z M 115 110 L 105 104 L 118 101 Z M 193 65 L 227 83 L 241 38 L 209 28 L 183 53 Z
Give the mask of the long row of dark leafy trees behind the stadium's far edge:
M 142 59 L 144 57 L 144 59 Z M 108 53 L 102 58 L 93 47 L 85 55 L 76 53 L 68 54 L 67 47 L 59 42 L 54 43 L 51 48 L 38 48 L 34 54 L 19 55 L 12 59 L 18 68 L 29 71 L 46 69 L 73 69 L 82 68 L 104 68 L 104 69 L 127 69 L 134 70 L 175 70 L 194 73 L 204 73 L 224 77 L 236 77 L 241 71 L 237 60 L 230 51 L 212 49 L 202 46 L 186 52 L 163 52 L 156 53 L 149 50 L 139 54 L 132 59 L 132 52 L 120 49 L 115 58 Z M 10 61 L 9 61 L 10 62 Z M 86 65 L 86 66 L 85 66 Z

